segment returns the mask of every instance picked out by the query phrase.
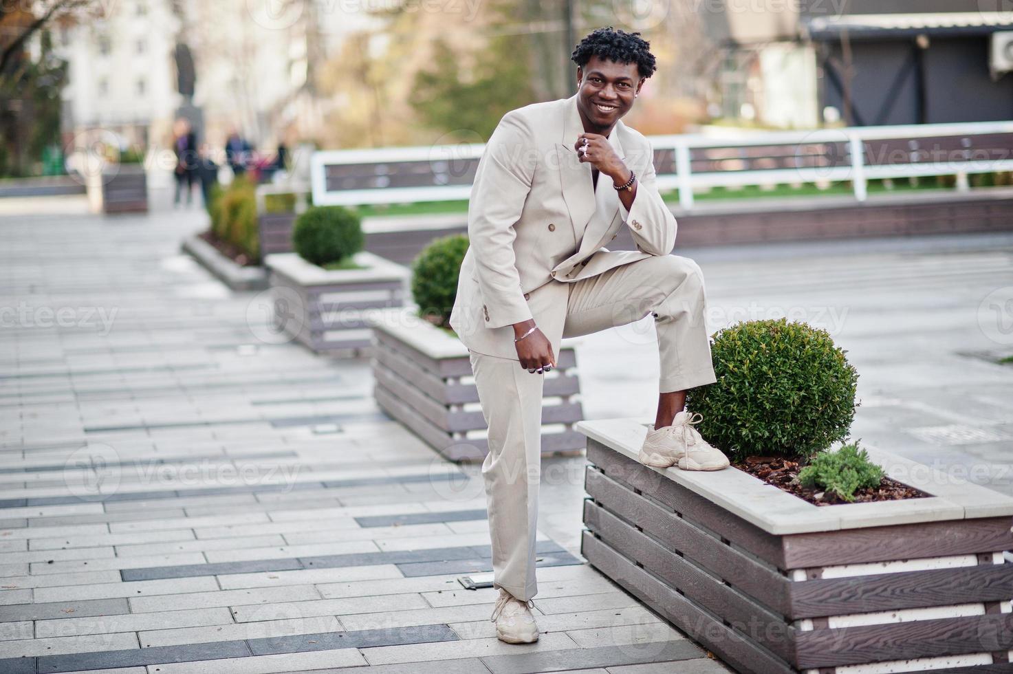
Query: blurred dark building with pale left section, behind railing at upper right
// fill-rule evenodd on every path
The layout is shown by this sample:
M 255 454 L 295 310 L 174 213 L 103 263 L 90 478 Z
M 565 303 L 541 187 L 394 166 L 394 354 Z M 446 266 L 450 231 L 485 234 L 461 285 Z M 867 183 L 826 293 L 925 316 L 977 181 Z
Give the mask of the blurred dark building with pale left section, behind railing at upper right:
M 774 127 L 1013 119 L 1001 0 L 705 3 L 721 116 Z

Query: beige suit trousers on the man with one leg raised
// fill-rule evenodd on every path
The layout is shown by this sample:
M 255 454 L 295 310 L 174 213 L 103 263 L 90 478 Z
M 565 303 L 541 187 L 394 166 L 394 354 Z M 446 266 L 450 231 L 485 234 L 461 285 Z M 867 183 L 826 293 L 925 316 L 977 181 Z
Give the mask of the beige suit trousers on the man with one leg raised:
M 564 338 L 631 323 L 651 312 L 659 350 L 658 390 L 679 391 L 715 381 L 704 322 L 703 275 L 692 259 L 648 257 L 568 285 Z M 535 535 L 544 378 L 529 373 L 516 359 L 473 351 L 470 357 L 489 427 L 482 477 L 493 586 L 526 601 L 538 591 Z

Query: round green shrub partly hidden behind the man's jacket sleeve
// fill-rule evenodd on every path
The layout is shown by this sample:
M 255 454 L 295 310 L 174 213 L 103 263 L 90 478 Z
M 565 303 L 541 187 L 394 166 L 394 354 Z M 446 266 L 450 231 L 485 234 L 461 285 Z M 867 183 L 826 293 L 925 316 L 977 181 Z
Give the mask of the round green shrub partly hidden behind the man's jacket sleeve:
M 411 264 L 411 294 L 418 312 L 432 316 L 443 327 L 449 327 L 461 260 L 467 250 L 464 234 L 444 236 L 425 246 Z

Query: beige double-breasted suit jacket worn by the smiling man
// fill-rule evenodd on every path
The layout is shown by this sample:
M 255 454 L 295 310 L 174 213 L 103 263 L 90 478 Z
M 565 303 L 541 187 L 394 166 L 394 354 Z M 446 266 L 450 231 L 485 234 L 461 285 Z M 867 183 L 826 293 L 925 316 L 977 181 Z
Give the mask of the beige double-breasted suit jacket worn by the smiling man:
M 503 116 L 482 153 L 468 205 L 470 245 L 450 324 L 477 353 L 517 359 L 514 329 L 534 318 L 558 356 L 566 284 L 650 255 L 667 255 L 676 219 L 654 184 L 650 143 L 616 123 L 609 142 L 638 184 L 629 212 L 612 179 L 592 183 L 574 150 L 583 125 L 576 94 Z M 636 250 L 605 244 L 628 227 Z

